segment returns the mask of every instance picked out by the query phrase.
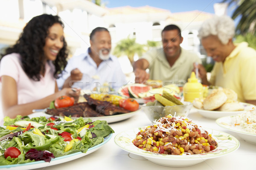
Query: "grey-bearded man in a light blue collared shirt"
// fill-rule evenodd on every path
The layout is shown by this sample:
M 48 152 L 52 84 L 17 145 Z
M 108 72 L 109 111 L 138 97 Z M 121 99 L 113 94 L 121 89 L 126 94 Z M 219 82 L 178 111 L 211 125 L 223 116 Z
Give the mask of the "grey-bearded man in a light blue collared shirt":
M 111 36 L 108 29 L 97 27 L 90 34 L 86 53 L 72 57 L 64 73 L 57 79 L 58 88 L 81 88 L 95 91 L 107 86 L 115 91 L 125 85 L 126 77 L 118 59 L 110 54 Z

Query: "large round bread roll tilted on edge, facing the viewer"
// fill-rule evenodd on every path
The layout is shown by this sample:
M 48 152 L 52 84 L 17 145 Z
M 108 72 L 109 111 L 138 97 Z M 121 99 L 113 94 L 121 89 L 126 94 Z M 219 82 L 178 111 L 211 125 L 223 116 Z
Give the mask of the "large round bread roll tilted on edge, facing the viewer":
M 213 91 L 204 99 L 204 110 L 215 110 L 227 101 L 227 95 L 223 91 Z

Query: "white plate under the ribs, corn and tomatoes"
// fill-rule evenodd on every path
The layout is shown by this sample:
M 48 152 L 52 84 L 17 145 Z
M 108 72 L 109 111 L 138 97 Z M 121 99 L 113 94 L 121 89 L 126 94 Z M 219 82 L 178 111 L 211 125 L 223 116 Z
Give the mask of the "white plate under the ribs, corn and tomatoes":
M 112 115 L 112 116 L 100 116 L 100 117 L 84 117 L 89 118 L 92 120 L 105 120 L 107 123 L 113 123 L 113 122 L 119 122 L 121 120 L 128 119 L 132 116 L 134 116 L 136 113 L 138 113 L 141 110 L 141 108 L 137 111 L 130 112 L 130 113 L 123 113 L 118 115 Z M 38 116 L 46 116 L 51 117 L 52 115 L 44 113 L 44 112 L 35 112 L 29 115 L 29 117 L 38 117 Z M 55 116 L 55 117 L 62 117 L 62 116 Z M 71 117 L 72 119 L 77 119 L 78 117 Z

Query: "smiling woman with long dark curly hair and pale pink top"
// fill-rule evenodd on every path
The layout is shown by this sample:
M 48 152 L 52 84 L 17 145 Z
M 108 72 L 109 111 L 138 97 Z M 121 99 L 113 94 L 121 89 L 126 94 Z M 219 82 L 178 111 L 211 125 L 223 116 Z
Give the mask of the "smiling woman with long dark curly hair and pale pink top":
M 63 95 L 78 99 L 80 91 L 58 91 L 56 84 L 67 65 L 63 28 L 58 16 L 33 17 L 16 44 L 6 49 L 0 60 L 4 116 L 28 115 L 33 109 L 49 107 L 51 101 Z

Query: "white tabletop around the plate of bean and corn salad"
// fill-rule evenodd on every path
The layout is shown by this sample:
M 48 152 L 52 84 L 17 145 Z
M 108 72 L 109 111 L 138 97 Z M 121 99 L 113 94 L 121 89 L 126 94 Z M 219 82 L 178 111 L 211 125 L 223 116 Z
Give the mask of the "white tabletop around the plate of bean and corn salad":
M 215 159 L 208 159 L 191 167 L 164 167 L 152 163 L 141 156 L 122 150 L 114 142 L 114 137 L 124 130 L 150 125 L 151 122 L 143 111 L 121 122 L 111 123 L 115 133 L 111 140 L 99 150 L 79 159 L 64 162 L 54 166 L 39 168 L 37 170 L 239 170 L 255 169 L 256 145 L 245 142 L 236 133 L 219 127 L 214 119 L 207 119 L 197 113 L 193 108 L 188 116 L 198 125 L 220 130 L 236 137 L 240 142 L 238 150 Z

